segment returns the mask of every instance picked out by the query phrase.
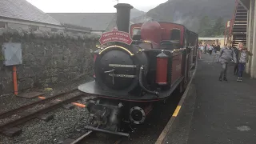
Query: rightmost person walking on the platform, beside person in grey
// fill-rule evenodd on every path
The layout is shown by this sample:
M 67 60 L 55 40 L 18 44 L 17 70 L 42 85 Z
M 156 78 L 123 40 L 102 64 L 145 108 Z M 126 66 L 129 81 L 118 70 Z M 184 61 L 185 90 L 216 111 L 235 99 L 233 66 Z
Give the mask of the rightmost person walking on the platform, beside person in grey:
M 243 47 L 242 49 L 238 50 L 238 82 L 242 82 L 242 73 L 245 70 L 246 62 L 249 60 L 249 56 L 253 54 L 247 50 L 247 47 Z

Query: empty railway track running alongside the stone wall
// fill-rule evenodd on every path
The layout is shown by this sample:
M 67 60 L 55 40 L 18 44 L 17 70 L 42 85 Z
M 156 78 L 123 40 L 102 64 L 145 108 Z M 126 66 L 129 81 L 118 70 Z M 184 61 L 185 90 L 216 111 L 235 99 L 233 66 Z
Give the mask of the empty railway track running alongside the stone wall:
M 56 94 L 50 98 L 44 98 L 37 102 L 32 102 L 26 106 L 20 106 L 17 109 L 6 111 L 0 114 L 0 133 L 5 134 L 6 130 L 20 125 L 41 114 L 57 109 L 64 104 L 74 102 L 82 98 L 83 94 L 78 90 L 70 90 L 61 94 Z

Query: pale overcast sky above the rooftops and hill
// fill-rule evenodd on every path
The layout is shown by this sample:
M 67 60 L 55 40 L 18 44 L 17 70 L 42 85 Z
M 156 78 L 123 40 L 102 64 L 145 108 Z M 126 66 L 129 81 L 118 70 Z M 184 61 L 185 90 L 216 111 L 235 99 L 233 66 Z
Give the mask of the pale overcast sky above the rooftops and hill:
M 117 0 L 26 0 L 46 13 L 110 13 L 116 12 Z M 119 0 L 138 10 L 148 11 L 167 0 Z

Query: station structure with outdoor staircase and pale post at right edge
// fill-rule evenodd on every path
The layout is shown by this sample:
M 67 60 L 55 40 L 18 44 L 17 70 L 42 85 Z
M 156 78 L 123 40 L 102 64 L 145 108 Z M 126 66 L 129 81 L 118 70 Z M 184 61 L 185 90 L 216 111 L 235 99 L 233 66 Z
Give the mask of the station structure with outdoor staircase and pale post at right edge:
M 255 0 L 236 0 L 234 15 L 226 24 L 227 40 L 237 46 L 238 42 L 244 45 L 254 54 L 246 64 L 246 73 L 256 78 L 256 2 Z

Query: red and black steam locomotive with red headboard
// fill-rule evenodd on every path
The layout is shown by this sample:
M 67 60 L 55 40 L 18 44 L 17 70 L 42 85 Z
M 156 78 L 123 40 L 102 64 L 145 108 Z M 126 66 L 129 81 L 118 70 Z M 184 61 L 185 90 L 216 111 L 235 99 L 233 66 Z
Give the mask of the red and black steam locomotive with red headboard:
M 95 96 L 87 104 L 86 129 L 129 136 L 121 122 L 145 122 L 154 102 L 181 92 L 196 62 L 198 34 L 170 22 L 149 21 L 130 26 L 133 6 L 118 3 L 117 27 L 102 34 L 94 51 L 94 81 L 78 86 Z

